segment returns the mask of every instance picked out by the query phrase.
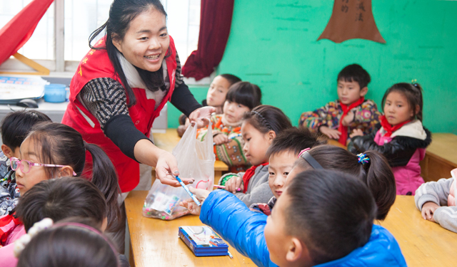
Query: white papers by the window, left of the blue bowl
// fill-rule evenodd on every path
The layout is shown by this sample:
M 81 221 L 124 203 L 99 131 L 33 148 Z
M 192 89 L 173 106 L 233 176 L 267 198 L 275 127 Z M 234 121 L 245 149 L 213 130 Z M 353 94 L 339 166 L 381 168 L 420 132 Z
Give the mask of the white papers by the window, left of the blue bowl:
M 0 100 L 41 98 L 47 83 L 39 76 L 0 76 Z

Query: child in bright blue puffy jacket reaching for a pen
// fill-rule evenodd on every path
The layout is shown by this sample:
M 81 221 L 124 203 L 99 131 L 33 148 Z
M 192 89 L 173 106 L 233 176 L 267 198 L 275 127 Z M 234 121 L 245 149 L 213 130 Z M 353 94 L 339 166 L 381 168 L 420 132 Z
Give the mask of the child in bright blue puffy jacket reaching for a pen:
M 201 208 L 182 205 L 257 266 L 406 266 L 393 236 L 373 225 L 376 204 L 363 182 L 324 169 L 290 174 L 268 217 L 224 190 L 191 189 Z

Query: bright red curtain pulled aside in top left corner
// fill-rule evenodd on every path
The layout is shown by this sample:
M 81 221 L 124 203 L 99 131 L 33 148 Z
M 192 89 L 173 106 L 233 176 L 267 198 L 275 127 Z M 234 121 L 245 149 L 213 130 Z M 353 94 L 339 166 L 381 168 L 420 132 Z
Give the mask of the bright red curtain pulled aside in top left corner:
M 16 0 L 14 0 L 16 1 Z M 0 30 L 0 64 L 29 41 L 36 25 L 54 0 L 34 0 Z

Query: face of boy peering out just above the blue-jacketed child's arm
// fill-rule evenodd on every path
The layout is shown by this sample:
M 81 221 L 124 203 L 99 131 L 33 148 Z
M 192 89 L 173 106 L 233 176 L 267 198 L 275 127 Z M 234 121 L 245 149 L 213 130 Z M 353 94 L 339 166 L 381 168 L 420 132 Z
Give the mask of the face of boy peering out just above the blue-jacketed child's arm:
M 285 190 L 286 178 L 293 167 L 298 155 L 291 151 L 279 152 L 271 155 L 268 165 L 268 185 L 271 192 L 278 199 Z

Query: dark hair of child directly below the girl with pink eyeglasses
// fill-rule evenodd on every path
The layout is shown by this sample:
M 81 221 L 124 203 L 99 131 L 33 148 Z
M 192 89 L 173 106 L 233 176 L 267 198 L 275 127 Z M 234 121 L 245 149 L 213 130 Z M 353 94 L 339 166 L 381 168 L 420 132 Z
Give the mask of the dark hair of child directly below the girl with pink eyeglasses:
M 44 218 L 60 221 L 79 216 L 101 224 L 106 218 L 106 200 L 100 190 L 86 179 L 63 177 L 44 180 L 19 198 L 16 216 L 19 216 L 26 231 Z

